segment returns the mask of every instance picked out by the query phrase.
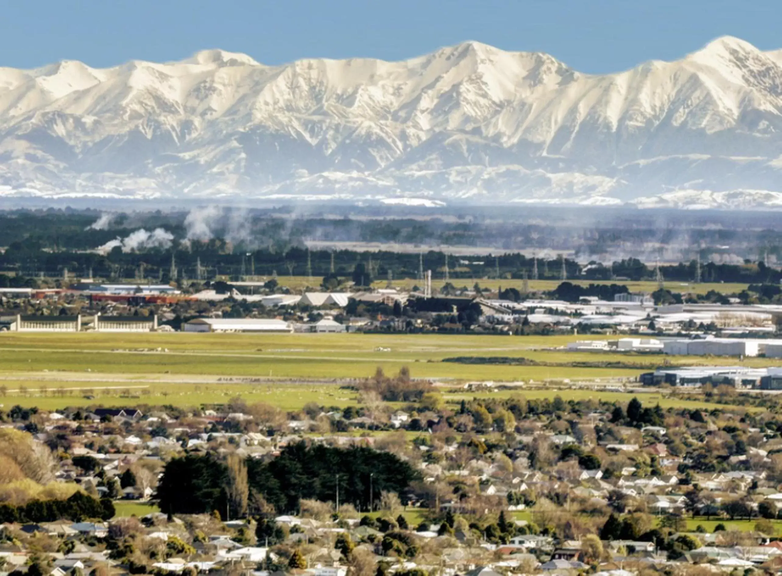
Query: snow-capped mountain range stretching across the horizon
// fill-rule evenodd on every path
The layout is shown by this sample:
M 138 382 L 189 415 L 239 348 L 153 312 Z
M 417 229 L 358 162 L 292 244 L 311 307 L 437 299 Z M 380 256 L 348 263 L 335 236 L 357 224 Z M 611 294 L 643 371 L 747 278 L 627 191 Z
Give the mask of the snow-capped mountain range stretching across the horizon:
M 782 50 L 0 68 L 0 195 L 782 207 Z

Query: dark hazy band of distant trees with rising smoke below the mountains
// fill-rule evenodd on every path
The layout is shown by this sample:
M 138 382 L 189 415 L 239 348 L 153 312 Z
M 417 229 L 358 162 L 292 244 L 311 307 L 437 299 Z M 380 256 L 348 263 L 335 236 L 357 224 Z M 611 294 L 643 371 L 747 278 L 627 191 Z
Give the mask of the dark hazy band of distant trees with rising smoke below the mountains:
M 230 212 L 230 211 L 229 211 Z M 404 252 L 364 252 L 356 250 L 307 250 L 304 238 L 313 229 L 328 230 L 334 238 L 357 238 L 359 241 L 395 241 L 425 245 L 490 245 L 502 236 L 503 224 L 479 222 L 447 223 L 443 220 L 400 218 L 396 220 L 334 220 L 320 217 L 280 216 L 271 211 L 253 210 L 242 215 L 242 234 L 237 238 L 231 230 L 231 215 L 221 216 L 221 224 L 214 227 L 214 238 L 208 241 L 188 241 L 185 213 L 117 214 L 110 227 L 95 229 L 100 213 L 92 210 L 16 210 L 0 213 L 0 246 L 6 246 L 0 254 L 0 271 L 15 272 L 30 278 L 45 274 L 58 277 L 64 270 L 77 276 L 87 276 L 91 270 L 98 277 L 136 277 L 174 281 L 170 277 L 171 259 L 178 270 L 178 278 L 195 278 L 196 268 L 202 270 L 203 279 L 218 275 L 240 277 L 246 275 L 271 276 L 312 275 L 328 279 L 337 287 L 345 280 L 357 285 L 367 285 L 371 280 L 419 277 L 419 269 L 432 270 L 436 279 L 444 277 L 446 254 L 429 250 L 420 255 Z M 106 255 L 91 252 L 106 242 L 127 237 L 131 232 L 145 227 L 153 230 L 164 227 L 174 235 L 174 242 L 167 249 L 148 249 L 144 252 L 123 252 L 115 248 Z M 702 231 L 701 231 L 702 232 Z M 767 253 L 782 256 L 782 237 L 776 231 L 766 231 L 764 245 Z M 509 232 L 510 234 L 510 232 Z M 555 226 L 541 227 L 530 224 L 514 224 L 512 235 L 526 246 L 551 245 L 552 238 L 561 238 L 562 245 L 572 241 Z M 618 238 L 647 241 L 658 235 L 649 230 L 597 231 L 599 248 L 603 243 L 615 243 Z M 227 238 L 231 238 L 228 241 Z M 490 241 L 491 240 L 491 241 Z M 703 238 L 717 241 L 721 238 Z M 554 243 L 554 245 L 558 245 Z M 510 246 L 504 247 L 506 251 Z M 588 248 L 588 247 L 587 247 Z M 582 252 L 589 253 L 589 249 Z M 601 252 L 602 251 L 602 252 Z M 601 248 L 595 253 L 609 252 Z M 704 258 L 706 260 L 706 258 Z M 143 265 L 143 266 L 142 266 Z M 508 251 L 501 255 L 454 256 L 448 259 L 449 277 L 457 279 L 499 278 L 501 280 L 562 279 L 562 269 L 569 279 L 630 281 L 654 280 L 655 266 L 647 266 L 639 259 L 615 260 L 611 263 L 590 262 L 581 266 L 575 259 L 564 258 L 547 252 L 547 256 L 534 258 L 521 252 Z M 694 281 L 698 275 L 698 263 L 689 262 L 661 266 L 666 281 Z M 741 282 L 754 284 L 778 284 L 782 273 L 759 261 L 743 264 L 701 264 L 700 276 L 705 282 Z M 26 280 L 27 282 L 31 282 Z M 2 280 L 0 280 L 2 282 Z M 14 285 L 14 284 L 11 284 Z M 25 284 L 27 285 L 27 284 Z

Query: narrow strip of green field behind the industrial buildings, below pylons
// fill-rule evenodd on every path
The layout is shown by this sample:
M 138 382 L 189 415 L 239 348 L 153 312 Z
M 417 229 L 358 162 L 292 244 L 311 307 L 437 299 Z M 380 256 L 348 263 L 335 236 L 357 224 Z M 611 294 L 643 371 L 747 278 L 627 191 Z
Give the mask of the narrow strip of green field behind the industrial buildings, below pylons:
M 440 276 L 439 278 L 436 278 L 436 276 Z M 432 288 L 436 288 L 439 290 L 439 288 L 442 288 L 445 284 L 445 281 L 441 277 L 441 273 L 437 273 L 436 270 L 432 270 Z M 311 279 L 307 276 L 278 276 L 277 281 L 279 282 L 280 286 L 286 286 L 294 291 L 302 291 L 303 289 L 310 287 L 310 288 L 317 288 L 318 284 L 321 282 L 320 277 L 312 277 Z M 586 286 L 588 284 L 623 284 L 627 286 L 627 288 L 630 289 L 630 292 L 655 292 L 657 290 L 657 282 L 655 281 L 622 281 L 622 280 L 615 280 L 615 281 L 607 281 L 607 280 L 568 280 L 569 282 L 572 282 L 573 284 L 579 284 Z M 472 288 L 472 286 L 475 284 L 475 282 L 478 282 L 478 284 L 481 285 L 481 288 L 490 288 L 492 290 L 497 290 L 497 288 L 516 288 L 518 290 L 521 290 L 523 281 L 515 278 L 512 280 L 508 279 L 497 279 L 497 278 L 451 278 L 450 284 L 454 284 L 457 288 L 461 288 L 462 286 L 467 286 L 468 288 Z M 530 280 L 529 281 L 529 289 L 534 291 L 549 291 L 554 290 L 554 288 L 557 288 L 557 286 L 561 283 L 560 280 Z M 386 288 L 388 285 L 388 281 L 382 280 L 382 281 L 376 281 L 374 284 L 374 288 Z M 395 288 L 401 288 L 404 290 L 411 290 L 414 286 L 421 285 L 421 281 L 416 280 L 414 278 L 403 278 L 400 280 L 394 280 L 392 281 L 392 285 Z M 676 281 L 669 281 L 665 282 L 665 288 L 669 289 L 671 292 L 681 292 L 681 293 L 693 293 L 693 294 L 705 294 L 706 292 L 709 292 L 710 290 L 715 290 L 716 292 L 720 292 L 723 294 L 734 294 L 737 292 L 741 292 L 742 290 L 747 288 L 748 284 L 741 284 L 741 283 L 720 283 L 720 282 L 705 282 L 701 284 L 695 284 L 694 282 L 676 282 Z

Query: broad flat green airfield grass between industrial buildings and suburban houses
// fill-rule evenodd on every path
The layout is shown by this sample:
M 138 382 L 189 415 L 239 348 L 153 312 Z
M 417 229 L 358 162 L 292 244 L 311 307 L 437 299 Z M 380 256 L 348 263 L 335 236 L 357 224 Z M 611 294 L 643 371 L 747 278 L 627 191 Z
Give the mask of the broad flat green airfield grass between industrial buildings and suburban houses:
M 612 379 L 633 381 L 662 364 L 662 356 L 594 354 L 556 349 L 576 337 L 490 335 L 240 335 L 240 334 L 0 334 L 0 402 L 53 410 L 104 403 L 128 406 L 199 406 L 235 396 L 300 410 L 307 402 L 349 406 L 356 394 L 339 388 L 382 367 L 396 374 L 409 367 L 413 377 L 431 378 L 443 390 L 469 381 L 518 383 L 529 398 L 552 397 L 572 383 L 605 386 Z M 591 337 L 590 337 L 591 338 Z M 601 337 L 594 337 L 601 338 Z M 603 337 L 604 338 L 604 337 Z M 541 366 L 443 362 L 454 356 L 523 357 Z M 715 363 L 715 359 L 667 357 L 672 364 Z M 569 363 L 591 363 L 573 367 Z M 719 362 L 719 360 L 717 361 Z M 723 363 L 737 363 L 724 359 Z M 746 365 L 780 365 L 751 359 Z M 596 367 L 597 366 L 597 367 Z M 521 392 L 520 390 L 518 392 Z M 511 395 L 517 390 L 490 392 Z M 561 392 L 561 391 L 560 391 Z M 482 392 L 485 394 L 486 392 Z M 447 392 L 457 402 L 472 392 Z M 626 399 L 622 392 L 569 390 L 567 398 Z M 707 407 L 696 400 L 644 395 L 661 406 Z M 710 407 L 710 406 L 709 406 Z

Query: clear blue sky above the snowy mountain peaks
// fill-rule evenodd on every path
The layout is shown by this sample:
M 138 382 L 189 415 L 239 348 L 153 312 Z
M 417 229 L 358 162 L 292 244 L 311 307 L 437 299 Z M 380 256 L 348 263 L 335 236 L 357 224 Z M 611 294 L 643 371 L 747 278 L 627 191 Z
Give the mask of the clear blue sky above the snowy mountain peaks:
M 725 34 L 782 48 L 780 16 L 782 0 L 16 0 L 2 7 L 0 66 L 113 66 L 204 48 L 267 64 L 395 60 L 477 40 L 606 73 L 677 59 Z

